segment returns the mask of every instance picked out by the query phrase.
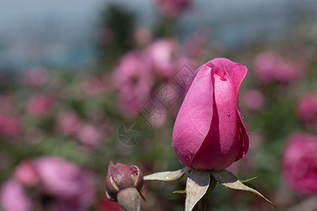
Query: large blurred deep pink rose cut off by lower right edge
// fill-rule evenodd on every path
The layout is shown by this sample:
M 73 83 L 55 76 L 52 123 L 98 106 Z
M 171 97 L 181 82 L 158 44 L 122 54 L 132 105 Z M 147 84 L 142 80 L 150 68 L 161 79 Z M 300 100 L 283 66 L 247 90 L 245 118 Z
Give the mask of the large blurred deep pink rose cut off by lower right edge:
M 282 176 L 296 193 L 317 193 L 317 136 L 290 134 L 282 158 Z

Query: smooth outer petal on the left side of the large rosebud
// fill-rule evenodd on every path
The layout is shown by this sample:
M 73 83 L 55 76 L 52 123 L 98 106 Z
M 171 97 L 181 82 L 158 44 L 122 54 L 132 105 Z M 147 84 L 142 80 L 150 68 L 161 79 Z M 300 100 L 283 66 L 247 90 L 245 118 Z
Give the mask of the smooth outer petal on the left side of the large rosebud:
M 191 165 L 209 132 L 213 116 L 212 102 L 211 68 L 204 65 L 187 91 L 173 130 L 175 153 L 180 162 L 187 167 Z

